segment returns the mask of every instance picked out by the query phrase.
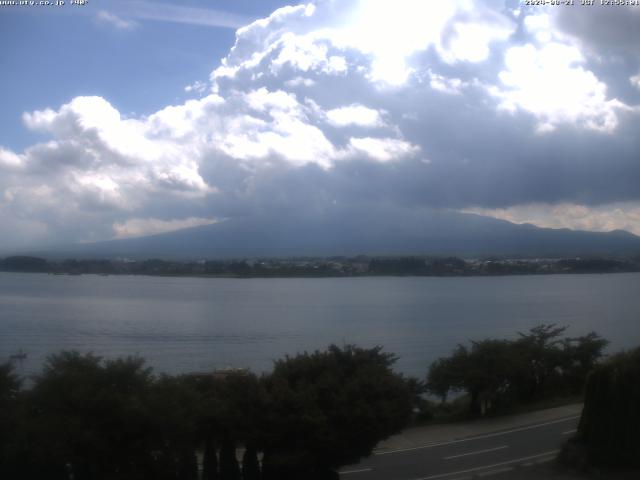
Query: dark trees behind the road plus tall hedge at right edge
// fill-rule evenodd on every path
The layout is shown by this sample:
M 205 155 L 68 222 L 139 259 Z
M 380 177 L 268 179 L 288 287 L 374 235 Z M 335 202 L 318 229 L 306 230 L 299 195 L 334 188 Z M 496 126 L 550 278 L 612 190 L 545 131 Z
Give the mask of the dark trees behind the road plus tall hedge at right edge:
M 539 325 L 514 340 L 459 345 L 429 368 L 427 391 L 442 402 L 432 412 L 460 418 L 464 409 L 473 417 L 579 398 L 584 409 L 576 436 L 562 450 L 563 463 L 631 468 L 628 478 L 638 478 L 640 348 L 602 361 L 606 340 L 594 332 L 564 337 L 565 331 Z M 446 402 L 451 393 L 459 396 Z

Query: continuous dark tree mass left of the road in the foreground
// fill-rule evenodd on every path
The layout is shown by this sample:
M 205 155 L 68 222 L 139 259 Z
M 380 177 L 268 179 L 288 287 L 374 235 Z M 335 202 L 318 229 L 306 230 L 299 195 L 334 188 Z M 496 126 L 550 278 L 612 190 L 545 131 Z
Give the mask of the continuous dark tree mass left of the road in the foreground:
M 0 478 L 195 480 L 197 455 L 205 480 L 337 478 L 410 419 L 393 362 L 380 348 L 331 346 L 260 378 L 154 376 L 140 358 L 62 352 L 27 390 L 5 365 Z

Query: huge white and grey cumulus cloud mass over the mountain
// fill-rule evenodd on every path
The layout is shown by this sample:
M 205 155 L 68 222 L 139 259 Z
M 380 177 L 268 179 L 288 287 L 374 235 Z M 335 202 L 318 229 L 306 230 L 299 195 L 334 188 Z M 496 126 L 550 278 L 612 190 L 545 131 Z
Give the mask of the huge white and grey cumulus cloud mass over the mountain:
M 185 88 L 198 98 L 146 116 L 97 96 L 25 112 L 47 138 L 0 149 L 0 218 L 28 219 L 34 240 L 353 205 L 637 231 L 639 110 L 611 79 L 632 90 L 640 65 L 604 68 L 609 37 L 587 42 L 559 10 L 281 8 L 238 28 L 209 82 Z

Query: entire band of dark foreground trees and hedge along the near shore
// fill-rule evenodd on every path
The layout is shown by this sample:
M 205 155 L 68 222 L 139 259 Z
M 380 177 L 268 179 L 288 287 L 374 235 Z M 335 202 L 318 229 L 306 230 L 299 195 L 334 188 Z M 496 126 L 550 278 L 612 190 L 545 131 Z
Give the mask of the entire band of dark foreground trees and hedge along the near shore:
M 394 355 L 381 347 L 353 345 L 286 356 L 262 376 L 156 375 L 139 357 L 63 351 L 27 388 L 6 363 L 0 478 L 335 479 L 412 422 L 574 400 L 587 378 L 574 445 L 589 461 L 637 464 L 640 349 L 603 363 L 606 340 L 564 333 L 540 325 L 513 340 L 460 345 L 425 381 L 394 372 Z M 615 449 L 607 443 L 613 431 L 625 433 Z

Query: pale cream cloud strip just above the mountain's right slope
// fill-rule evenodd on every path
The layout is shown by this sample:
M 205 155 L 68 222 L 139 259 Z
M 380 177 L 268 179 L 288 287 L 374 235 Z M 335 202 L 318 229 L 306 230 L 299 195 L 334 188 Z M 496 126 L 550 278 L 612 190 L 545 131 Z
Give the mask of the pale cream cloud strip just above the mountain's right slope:
M 509 208 L 469 208 L 465 212 L 486 215 L 513 223 L 530 223 L 545 228 L 570 228 L 595 232 L 626 230 L 640 235 L 640 203 L 625 202 L 595 207 L 575 203 L 527 204 Z

